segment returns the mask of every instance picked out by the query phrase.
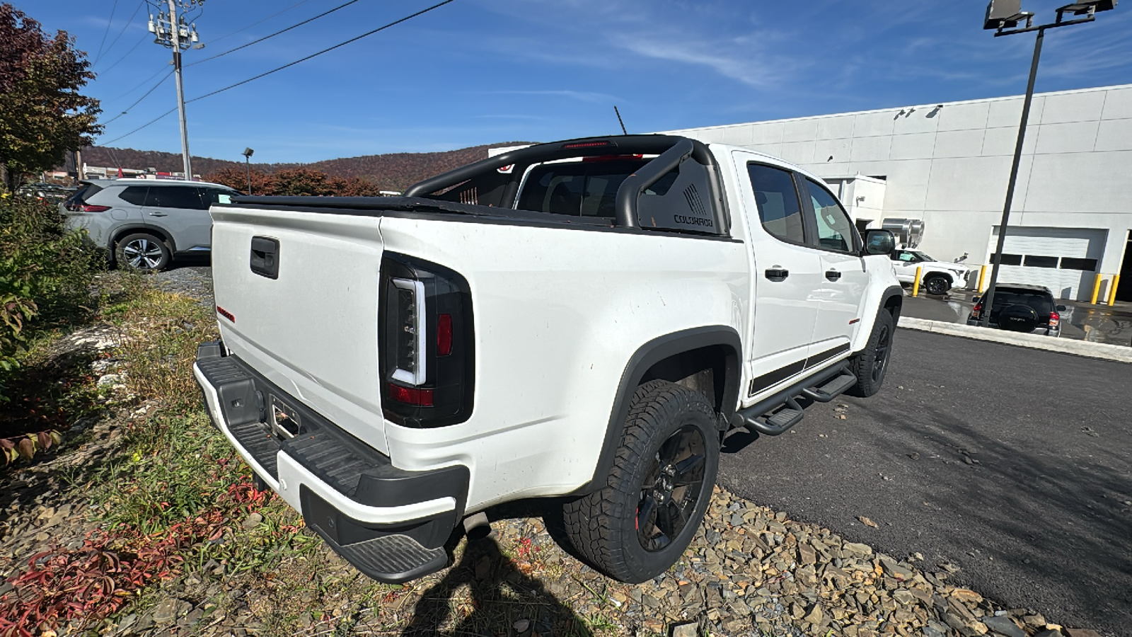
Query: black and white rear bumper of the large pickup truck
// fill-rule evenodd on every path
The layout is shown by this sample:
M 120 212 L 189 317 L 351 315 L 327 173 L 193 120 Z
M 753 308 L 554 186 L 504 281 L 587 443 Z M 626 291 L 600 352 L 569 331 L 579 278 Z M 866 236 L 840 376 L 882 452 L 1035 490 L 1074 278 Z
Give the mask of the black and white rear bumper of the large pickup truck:
M 332 549 L 369 577 L 397 584 L 447 566 L 469 469 L 406 472 L 269 383 L 220 341 L 198 348 L 194 376 L 213 424 Z M 273 426 L 280 406 L 290 438 Z

